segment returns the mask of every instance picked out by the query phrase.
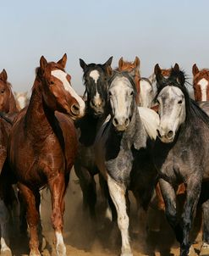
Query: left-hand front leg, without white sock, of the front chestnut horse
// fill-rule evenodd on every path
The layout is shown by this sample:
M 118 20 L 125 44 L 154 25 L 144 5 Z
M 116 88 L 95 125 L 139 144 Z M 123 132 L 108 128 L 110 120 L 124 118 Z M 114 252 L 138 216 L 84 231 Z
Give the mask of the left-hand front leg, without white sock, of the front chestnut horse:
M 30 256 L 40 256 L 37 225 L 39 222 L 39 212 L 36 209 L 36 192 L 22 183 L 18 184 L 19 190 L 26 203 L 26 218 L 30 227 Z

